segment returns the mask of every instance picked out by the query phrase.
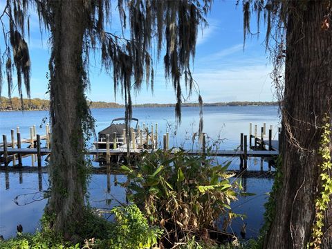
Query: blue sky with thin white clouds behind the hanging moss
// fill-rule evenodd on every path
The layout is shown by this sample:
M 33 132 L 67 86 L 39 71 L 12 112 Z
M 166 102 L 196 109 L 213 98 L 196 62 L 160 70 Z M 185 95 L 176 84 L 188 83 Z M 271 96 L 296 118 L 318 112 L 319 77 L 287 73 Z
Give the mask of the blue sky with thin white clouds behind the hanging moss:
M 0 8 L 3 9 L 4 0 L 0 1 Z M 265 27 L 261 26 L 259 39 L 257 36 L 247 38 L 246 48 L 243 50 L 242 7 L 235 6 L 235 3 L 236 1 L 232 0 L 214 1 L 208 15 L 209 26 L 203 30 L 203 35 L 200 35 L 197 41 L 192 70 L 194 79 L 199 84 L 204 102 L 272 101 L 274 90 L 269 76 L 272 66 L 268 63 L 264 48 Z M 112 6 L 113 10 L 115 6 L 116 4 Z M 119 32 L 117 17 L 118 15 L 113 15 L 115 21 L 112 28 Z M 252 17 L 253 30 L 255 22 L 255 17 Z M 31 98 L 48 98 L 45 94 L 49 59 L 47 42 L 48 35 L 44 34 L 41 39 L 37 15 L 32 13 L 29 42 L 32 64 Z M 143 87 L 133 98 L 134 104 L 176 102 L 172 83 L 166 84 L 163 73 L 161 61 L 156 68 L 154 93 Z M 95 57 L 95 60 L 91 57 L 90 81 L 91 90 L 86 93 L 90 100 L 115 102 L 113 80 L 102 72 L 98 57 Z M 7 91 L 4 82 L 2 95 L 6 96 Z M 12 95 L 17 95 L 16 88 Z M 187 102 L 196 102 L 197 98 L 198 95 L 193 93 Z M 123 103 L 120 93 L 117 94 L 116 102 Z

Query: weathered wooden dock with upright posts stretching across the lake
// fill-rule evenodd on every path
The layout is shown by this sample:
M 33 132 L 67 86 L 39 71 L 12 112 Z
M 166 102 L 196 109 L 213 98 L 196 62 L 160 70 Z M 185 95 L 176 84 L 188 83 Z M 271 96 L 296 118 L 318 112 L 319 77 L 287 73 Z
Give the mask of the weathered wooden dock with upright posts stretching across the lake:
M 157 124 L 155 131 L 157 131 Z M 125 133 L 125 130 L 124 130 Z M 201 137 L 201 149 L 185 150 L 188 155 L 206 155 L 206 156 L 220 156 L 220 157 L 239 157 L 241 160 L 240 169 L 247 169 L 247 160 L 249 157 L 274 158 L 279 155 L 279 141 L 272 139 L 272 126 L 268 130 L 268 139 L 266 139 L 266 124 L 261 127 L 260 137 L 257 136 L 257 125 L 255 125 L 255 132 L 252 133 L 252 124 L 250 123 L 249 136 L 240 134 L 240 145 L 234 150 L 215 150 L 207 151 L 205 143 L 206 134 L 203 133 Z M 278 131 L 279 138 L 280 130 Z M 42 147 L 41 140 L 46 140 L 46 146 Z M 129 143 L 129 151 L 127 151 L 127 142 Z M 28 144 L 28 147 L 22 148 L 22 144 Z M 137 133 L 131 129 L 131 140 L 122 141 L 117 140 L 116 133 L 113 134 L 112 140 L 107 134 L 105 141 L 95 142 L 96 145 L 103 145 L 106 149 L 88 149 L 86 154 L 102 158 L 107 164 L 110 164 L 110 158 L 113 156 L 135 156 L 141 154 L 142 151 L 151 153 L 158 149 L 158 133 L 154 133 L 154 127 L 151 126 L 151 131 L 143 124 L 143 129 L 138 128 Z M 163 135 L 163 148 L 174 154 L 179 149 L 169 149 L 169 133 Z M 42 167 L 42 156 L 52 153 L 50 146 L 50 130 L 46 125 L 46 135 L 40 136 L 35 132 L 35 126 L 30 127 L 30 138 L 21 139 L 19 127 L 17 127 L 16 139 L 15 131 L 11 130 L 11 141 L 7 142 L 6 135 L 3 135 L 3 142 L 0 143 L 0 163 L 5 167 L 10 161 L 18 160 L 18 165 L 21 165 L 21 158 L 28 155 L 37 155 L 37 165 Z

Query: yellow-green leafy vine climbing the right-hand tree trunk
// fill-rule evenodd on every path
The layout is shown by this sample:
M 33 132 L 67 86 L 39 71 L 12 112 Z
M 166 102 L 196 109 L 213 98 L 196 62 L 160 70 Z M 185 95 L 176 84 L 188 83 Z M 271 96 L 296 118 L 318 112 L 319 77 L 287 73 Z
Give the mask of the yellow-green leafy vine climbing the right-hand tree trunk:
M 315 200 L 315 222 L 313 224 L 313 232 L 311 237 L 313 241 L 310 243 L 311 248 L 320 248 L 322 243 L 322 227 L 324 226 L 324 212 L 328 207 L 330 196 L 332 195 L 332 178 L 329 171 L 332 169 L 331 151 L 329 144 L 331 142 L 331 124 L 330 119 L 326 115 L 323 119 L 324 125 L 322 126 L 322 140 L 320 141 L 320 148 L 318 153 L 322 156 L 322 163 L 319 165 L 322 173 L 320 174 L 320 181 L 322 182 L 322 191 Z

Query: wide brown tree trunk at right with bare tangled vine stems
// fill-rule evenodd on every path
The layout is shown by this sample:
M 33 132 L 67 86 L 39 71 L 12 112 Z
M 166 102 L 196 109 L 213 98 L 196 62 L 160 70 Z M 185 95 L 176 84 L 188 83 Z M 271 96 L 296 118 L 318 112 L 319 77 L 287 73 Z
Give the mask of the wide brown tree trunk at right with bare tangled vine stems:
M 322 28 L 325 1 L 288 1 L 283 106 L 282 187 L 265 248 L 306 248 L 320 193 L 322 119 L 332 118 L 332 34 Z M 331 145 L 330 145 L 331 147 Z M 331 197 L 330 197 L 331 198 Z M 332 208 L 322 248 L 331 248 Z

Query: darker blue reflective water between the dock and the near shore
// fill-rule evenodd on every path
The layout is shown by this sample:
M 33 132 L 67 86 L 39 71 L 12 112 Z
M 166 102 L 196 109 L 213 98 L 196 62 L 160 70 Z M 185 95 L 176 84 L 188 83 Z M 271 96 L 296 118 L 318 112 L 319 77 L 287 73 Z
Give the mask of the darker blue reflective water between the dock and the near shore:
M 5 238 L 15 236 L 18 224 L 23 225 L 24 232 L 34 232 L 39 226 L 39 219 L 47 203 L 47 199 L 44 199 L 44 191 L 48 188 L 46 170 L 36 167 L 30 172 L 25 170 L 0 171 L 0 183 L 6 183 L 0 184 L 0 234 Z M 240 234 L 243 223 L 247 223 L 246 237 L 257 237 L 263 223 L 266 193 L 270 191 L 273 183 L 273 179 L 266 176 L 268 176 L 266 172 L 263 172 L 260 178 L 241 178 L 243 191 L 256 195 L 243 196 L 231 205 L 234 212 L 247 216 L 244 221 L 236 219 L 232 222 L 232 229 L 237 234 Z M 103 172 L 92 174 L 89 183 L 91 207 L 110 210 L 116 205 L 128 203 L 128 190 L 120 184 L 126 181 L 127 176 L 116 174 L 110 167 Z

